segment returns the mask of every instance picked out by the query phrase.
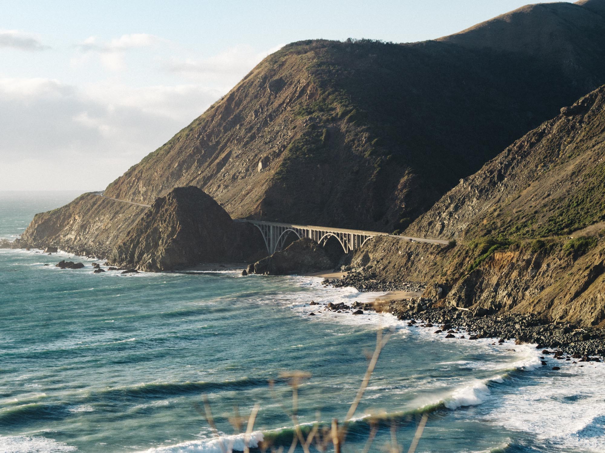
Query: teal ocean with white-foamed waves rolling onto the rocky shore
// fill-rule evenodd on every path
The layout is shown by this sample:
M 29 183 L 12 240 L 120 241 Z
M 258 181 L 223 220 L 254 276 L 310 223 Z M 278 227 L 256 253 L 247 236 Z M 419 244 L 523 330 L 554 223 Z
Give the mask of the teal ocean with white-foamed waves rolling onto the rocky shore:
M 77 194 L 0 193 L 0 239 Z M 54 266 L 68 258 L 85 268 Z M 309 376 L 297 388 L 302 435 L 342 422 L 379 330 L 390 339 L 343 451 L 363 451 L 375 432 L 369 451 L 406 452 L 424 414 L 417 452 L 605 451 L 605 363 L 554 371 L 534 345 L 323 311 L 309 303 L 378 294 L 319 278 L 93 274 L 93 261 L 0 250 L 0 452 L 242 450 L 238 420 L 255 405 L 249 446 L 288 451 L 288 373 Z

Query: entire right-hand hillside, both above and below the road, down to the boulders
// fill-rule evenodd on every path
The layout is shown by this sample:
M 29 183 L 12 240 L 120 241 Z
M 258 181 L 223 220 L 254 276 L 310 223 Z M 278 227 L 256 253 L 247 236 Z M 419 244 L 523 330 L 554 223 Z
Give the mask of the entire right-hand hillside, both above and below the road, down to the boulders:
M 605 326 L 605 86 L 460 182 L 405 234 L 457 245 L 385 237 L 353 265 L 385 280 L 432 280 L 443 303 L 473 311 Z

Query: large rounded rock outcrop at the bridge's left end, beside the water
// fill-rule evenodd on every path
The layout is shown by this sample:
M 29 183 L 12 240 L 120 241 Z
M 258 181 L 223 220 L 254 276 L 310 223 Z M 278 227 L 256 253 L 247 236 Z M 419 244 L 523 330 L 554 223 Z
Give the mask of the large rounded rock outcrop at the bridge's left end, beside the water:
M 263 250 L 263 239 L 254 226 L 231 220 L 199 188 L 177 187 L 154 202 L 108 262 L 157 272 L 198 263 L 247 261 Z

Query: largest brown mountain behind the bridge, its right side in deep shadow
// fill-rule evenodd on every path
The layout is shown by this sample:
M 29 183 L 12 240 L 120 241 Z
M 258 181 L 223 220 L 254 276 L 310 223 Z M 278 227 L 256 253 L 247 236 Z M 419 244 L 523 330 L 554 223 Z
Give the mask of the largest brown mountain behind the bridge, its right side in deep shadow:
M 494 19 L 497 28 L 439 41 L 287 45 L 106 194 L 150 204 L 196 185 L 232 217 L 403 229 L 460 178 L 605 83 L 605 19 L 592 4 L 526 8 L 522 21 Z M 503 30 L 516 40 L 500 45 Z M 65 211 L 94 222 L 89 208 Z M 37 225 L 28 236 L 40 236 Z M 59 236 L 88 241 L 73 222 Z

